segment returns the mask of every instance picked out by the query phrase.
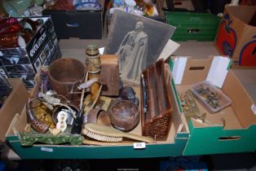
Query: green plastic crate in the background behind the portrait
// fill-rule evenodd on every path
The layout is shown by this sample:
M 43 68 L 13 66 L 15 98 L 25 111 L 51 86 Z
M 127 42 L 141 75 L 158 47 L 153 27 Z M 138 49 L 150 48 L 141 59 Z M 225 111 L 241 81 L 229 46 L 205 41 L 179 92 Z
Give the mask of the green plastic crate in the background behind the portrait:
M 214 41 L 221 18 L 210 13 L 167 12 L 167 24 L 176 27 L 174 41 Z

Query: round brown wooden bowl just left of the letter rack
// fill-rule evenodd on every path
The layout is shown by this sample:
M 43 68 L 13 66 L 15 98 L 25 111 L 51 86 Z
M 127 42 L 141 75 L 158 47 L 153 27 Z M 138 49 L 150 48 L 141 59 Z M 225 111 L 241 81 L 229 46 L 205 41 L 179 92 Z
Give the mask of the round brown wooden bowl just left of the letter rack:
M 130 100 L 118 100 L 111 107 L 111 124 L 122 131 L 130 131 L 139 123 L 139 109 Z

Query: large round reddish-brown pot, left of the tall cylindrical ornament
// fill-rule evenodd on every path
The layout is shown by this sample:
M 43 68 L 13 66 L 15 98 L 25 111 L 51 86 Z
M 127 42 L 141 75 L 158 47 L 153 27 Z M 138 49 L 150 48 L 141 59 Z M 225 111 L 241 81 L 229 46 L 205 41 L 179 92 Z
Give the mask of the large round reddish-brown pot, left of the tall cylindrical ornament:
M 71 102 L 78 104 L 81 90 L 77 89 L 86 76 L 86 67 L 77 59 L 57 59 L 49 68 L 52 88 Z

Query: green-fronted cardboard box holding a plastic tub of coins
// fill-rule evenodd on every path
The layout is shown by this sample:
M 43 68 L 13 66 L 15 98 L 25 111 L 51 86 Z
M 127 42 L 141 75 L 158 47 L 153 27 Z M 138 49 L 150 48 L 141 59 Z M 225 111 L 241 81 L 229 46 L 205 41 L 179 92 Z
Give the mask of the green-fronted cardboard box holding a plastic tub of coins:
M 187 59 L 184 71 L 179 72 L 181 75 L 183 73 L 182 81 L 180 84 L 175 85 L 177 94 L 180 95 L 189 90 L 197 82 L 205 81 L 212 61 L 213 58 Z M 173 65 L 172 61 L 170 64 Z M 212 114 L 201 103 L 196 101 L 200 112 L 206 113 L 205 123 L 194 119 L 189 121 L 190 136 L 183 151 L 184 156 L 256 150 L 256 137 L 254 136 L 256 131 L 256 111 L 254 102 L 243 85 L 241 85 L 241 82 L 236 78 L 232 69 L 226 66 L 226 70 L 227 76 L 221 90 L 232 100 L 232 104 L 222 111 Z M 220 75 L 224 75 L 223 72 L 221 73 Z M 214 81 L 216 80 L 217 78 L 214 78 Z M 177 95 L 177 98 L 180 104 L 179 95 Z

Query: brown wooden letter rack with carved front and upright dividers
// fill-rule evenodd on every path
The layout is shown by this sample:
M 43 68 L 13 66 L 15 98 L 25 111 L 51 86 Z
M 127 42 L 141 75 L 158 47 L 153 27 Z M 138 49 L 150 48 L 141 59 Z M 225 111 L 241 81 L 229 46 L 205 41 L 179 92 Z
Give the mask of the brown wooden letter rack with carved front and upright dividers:
M 167 138 L 173 107 L 167 91 L 164 60 L 143 70 L 141 79 L 141 125 L 144 136 Z

